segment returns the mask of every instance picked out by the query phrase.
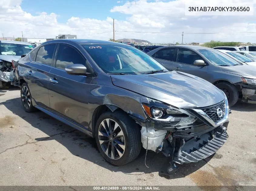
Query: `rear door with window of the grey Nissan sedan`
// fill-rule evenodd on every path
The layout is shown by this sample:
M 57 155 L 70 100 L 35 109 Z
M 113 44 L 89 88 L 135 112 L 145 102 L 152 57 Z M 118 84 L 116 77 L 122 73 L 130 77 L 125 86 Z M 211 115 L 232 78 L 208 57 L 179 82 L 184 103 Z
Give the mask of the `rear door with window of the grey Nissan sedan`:
M 49 72 L 53 65 L 56 43 L 41 46 L 30 54 L 32 62 L 26 63 L 28 88 L 32 98 L 42 107 L 50 107 L 48 95 Z M 33 58 L 32 58 L 33 57 Z

